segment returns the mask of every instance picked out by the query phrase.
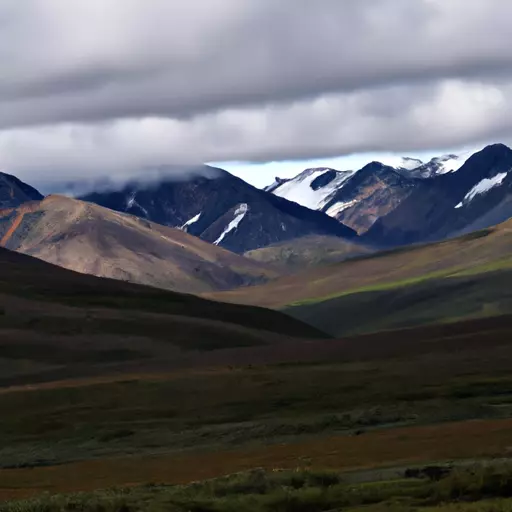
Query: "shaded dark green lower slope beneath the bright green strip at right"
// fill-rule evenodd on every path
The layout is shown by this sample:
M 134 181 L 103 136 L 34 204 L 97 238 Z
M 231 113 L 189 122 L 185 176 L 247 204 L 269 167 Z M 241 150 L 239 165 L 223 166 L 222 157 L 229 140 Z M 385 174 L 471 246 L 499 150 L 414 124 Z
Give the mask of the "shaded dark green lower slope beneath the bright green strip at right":
M 512 311 L 512 271 L 452 273 L 346 293 L 285 309 L 332 336 L 498 317 Z

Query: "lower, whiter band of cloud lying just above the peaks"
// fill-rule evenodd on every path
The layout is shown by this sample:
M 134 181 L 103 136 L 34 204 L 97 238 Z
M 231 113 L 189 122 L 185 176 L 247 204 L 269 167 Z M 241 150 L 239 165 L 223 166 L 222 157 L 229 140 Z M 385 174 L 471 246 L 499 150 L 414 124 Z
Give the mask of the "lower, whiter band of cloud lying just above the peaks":
M 0 169 L 55 191 L 62 183 L 105 176 L 118 181 L 150 179 L 155 173 L 176 176 L 207 161 L 411 152 L 497 140 L 512 140 L 512 80 L 499 85 L 447 80 L 182 120 L 5 130 L 0 132 Z

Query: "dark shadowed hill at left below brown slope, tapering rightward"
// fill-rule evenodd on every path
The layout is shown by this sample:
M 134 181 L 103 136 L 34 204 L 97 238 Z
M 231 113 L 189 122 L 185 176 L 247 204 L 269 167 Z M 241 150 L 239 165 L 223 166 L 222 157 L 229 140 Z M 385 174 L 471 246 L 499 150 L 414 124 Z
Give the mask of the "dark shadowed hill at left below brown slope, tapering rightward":
M 186 364 L 195 353 L 324 338 L 271 310 L 85 275 L 0 249 L 0 383 Z

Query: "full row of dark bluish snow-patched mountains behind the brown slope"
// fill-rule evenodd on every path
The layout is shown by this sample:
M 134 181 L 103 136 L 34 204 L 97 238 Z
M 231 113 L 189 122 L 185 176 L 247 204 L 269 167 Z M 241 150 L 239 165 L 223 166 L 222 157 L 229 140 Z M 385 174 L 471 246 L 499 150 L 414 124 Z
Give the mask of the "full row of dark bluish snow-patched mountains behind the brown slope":
M 0 206 L 41 197 L 0 173 Z M 238 253 L 308 235 L 353 239 L 358 234 L 362 243 L 396 246 L 440 240 L 510 218 L 512 150 L 494 144 L 473 155 L 446 155 L 427 163 L 391 158 L 358 171 L 312 168 L 293 179 L 277 178 L 267 190 L 204 167 L 188 180 L 132 183 L 82 199 Z

